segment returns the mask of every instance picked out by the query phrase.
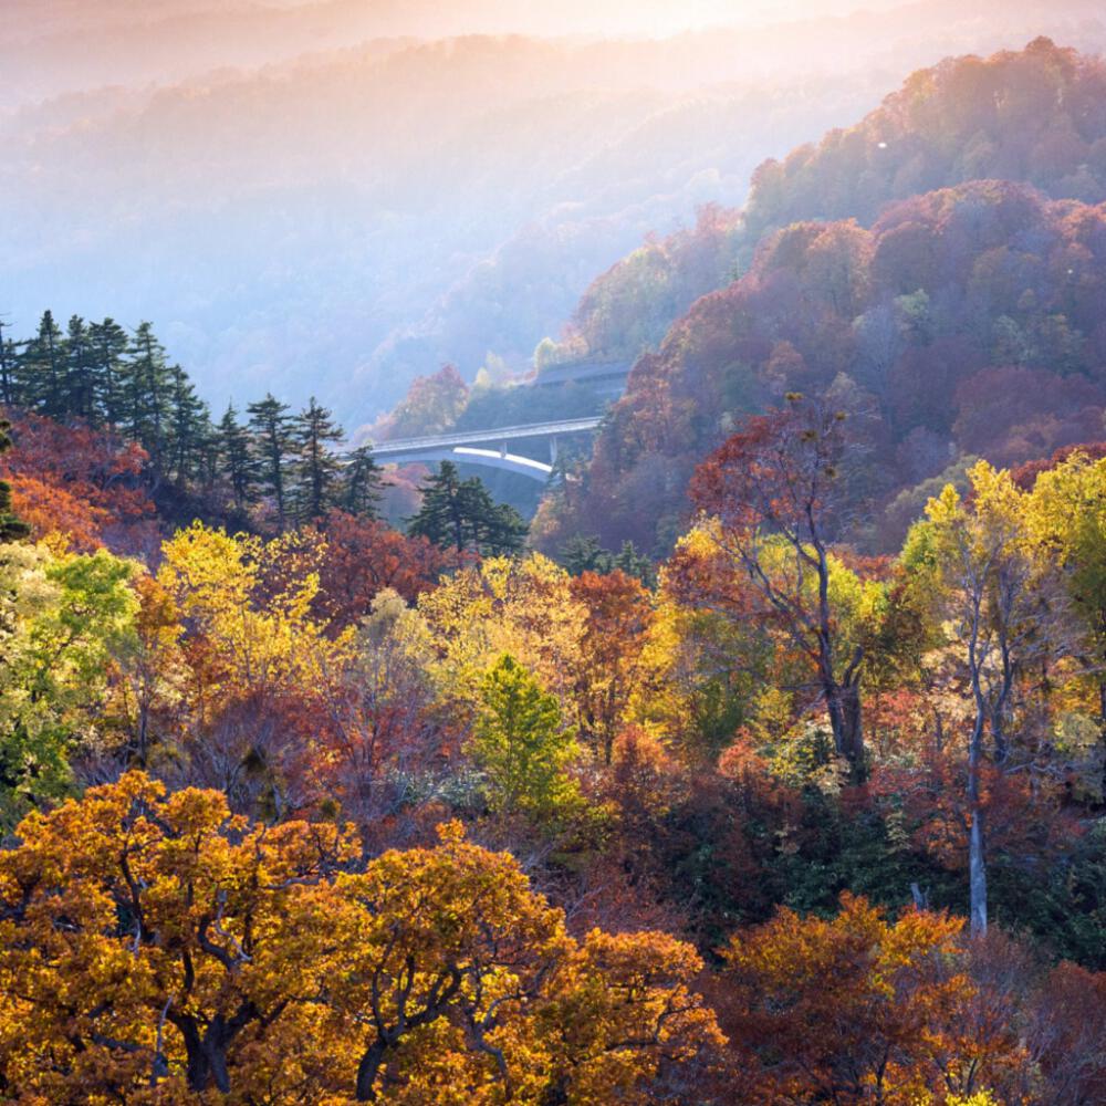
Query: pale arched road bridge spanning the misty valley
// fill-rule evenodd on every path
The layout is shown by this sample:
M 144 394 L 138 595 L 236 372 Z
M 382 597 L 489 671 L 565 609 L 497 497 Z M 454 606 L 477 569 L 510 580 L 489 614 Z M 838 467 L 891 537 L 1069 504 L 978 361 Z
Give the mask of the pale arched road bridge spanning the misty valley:
M 568 435 L 591 434 L 602 421 L 602 418 L 595 415 L 588 418 L 561 419 L 556 422 L 504 426 L 494 430 L 399 438 L 374 445 L 373 457 L 382 465 L 416 465 L 431 461 L 481 465 L 544 483 L 553 474 L 553 466 L 556 465 L 557 439 Z M 509 444 L 520 440 L 541 441 L 549 449 L 549 463 L 521 453 L 512 453 Z M 495 448 L 489 449 L 488 446 Z

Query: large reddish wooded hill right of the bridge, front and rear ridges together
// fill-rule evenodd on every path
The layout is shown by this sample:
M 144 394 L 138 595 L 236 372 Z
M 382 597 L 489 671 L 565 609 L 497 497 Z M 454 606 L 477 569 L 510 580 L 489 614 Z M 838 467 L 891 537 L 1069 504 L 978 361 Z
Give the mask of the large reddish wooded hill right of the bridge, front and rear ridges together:
M 695 463 L 789 390 L 833 386 L 866 413 L 879 510 L 859 536 L 878 547 L 901 536 L 895 498 L 924 502 L 910 489 L 969 455 L 1100 437 L 1104 199 L 1106 65 L 1046 39 L 916 73 L 859 125 L 765 163 L 743 212 L 707 212 L 584 298 L 555 356 L 667 336 L 542 540 L 664 549 Z

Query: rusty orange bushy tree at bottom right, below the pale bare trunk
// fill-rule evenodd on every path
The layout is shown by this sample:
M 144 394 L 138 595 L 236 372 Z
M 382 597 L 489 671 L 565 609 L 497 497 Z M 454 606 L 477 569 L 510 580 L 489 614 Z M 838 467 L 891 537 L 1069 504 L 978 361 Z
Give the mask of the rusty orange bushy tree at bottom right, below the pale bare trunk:
M 981 1034 L 969 1016 L 961 919 L 888 922 L 848 894 L 841 906 L 828 921 L 781 910 L 723 951 L 728 1027 L 759 1061 L 757 1102 L 910 1106 L 988 1089 L 1023 1061 L 1009 1025 Z

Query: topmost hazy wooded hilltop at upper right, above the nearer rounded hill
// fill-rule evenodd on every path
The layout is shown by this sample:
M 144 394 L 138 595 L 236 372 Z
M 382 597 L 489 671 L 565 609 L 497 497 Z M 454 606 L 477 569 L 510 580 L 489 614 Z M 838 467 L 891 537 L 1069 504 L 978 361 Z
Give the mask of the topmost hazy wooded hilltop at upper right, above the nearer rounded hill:
M 868 223 L 891 200 L 963 180 L 1021 180 L 1055 199 L 1106 200 L 1106 65 L 1037 39 L 910 76 L 860 124 L 753 176 L 753 231 L 799 219 Z

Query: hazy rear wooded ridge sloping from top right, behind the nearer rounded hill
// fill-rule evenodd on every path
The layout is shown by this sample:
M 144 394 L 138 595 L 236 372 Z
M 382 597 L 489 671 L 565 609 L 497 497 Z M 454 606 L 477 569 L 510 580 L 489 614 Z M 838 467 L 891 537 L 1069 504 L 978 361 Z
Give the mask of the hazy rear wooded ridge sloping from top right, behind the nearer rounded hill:
M 707 209 L 695 231 L 646 243 L 599 276 L 571 349 L 634 356 L 699 295 L 748 268 L 757 242 L 803 219 L 870 223 L 896 200 L 967 180 L 1021 180 L 1055 199 L 1106 199 L 1106 69 L 1046 39 L 910 76 L 859 124 L 753 174 L 748 206 Z

